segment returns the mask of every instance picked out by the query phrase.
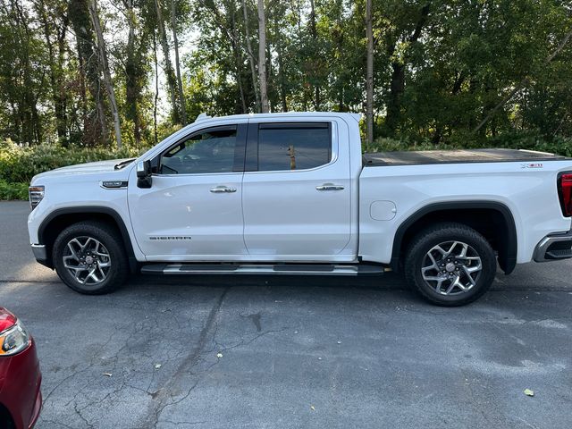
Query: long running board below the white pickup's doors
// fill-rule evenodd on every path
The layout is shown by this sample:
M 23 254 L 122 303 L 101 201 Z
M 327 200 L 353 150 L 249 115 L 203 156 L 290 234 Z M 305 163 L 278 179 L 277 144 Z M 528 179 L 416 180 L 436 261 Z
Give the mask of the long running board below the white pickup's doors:
M 144 274 L 282 274 L 282 275 L 379 275 L 390 270 L 381 265 L 330 264 L 151 264 Z

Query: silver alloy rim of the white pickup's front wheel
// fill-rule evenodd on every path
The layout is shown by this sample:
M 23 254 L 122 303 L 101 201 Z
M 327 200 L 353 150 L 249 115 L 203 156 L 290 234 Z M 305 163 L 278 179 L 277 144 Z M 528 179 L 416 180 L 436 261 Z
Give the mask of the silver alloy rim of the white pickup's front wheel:
M 111 257 L 105 246 L 92 237 L 76 237 L 63 250 L 63 266 L 80 284 L 96 285 L 105 281 Z

